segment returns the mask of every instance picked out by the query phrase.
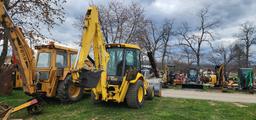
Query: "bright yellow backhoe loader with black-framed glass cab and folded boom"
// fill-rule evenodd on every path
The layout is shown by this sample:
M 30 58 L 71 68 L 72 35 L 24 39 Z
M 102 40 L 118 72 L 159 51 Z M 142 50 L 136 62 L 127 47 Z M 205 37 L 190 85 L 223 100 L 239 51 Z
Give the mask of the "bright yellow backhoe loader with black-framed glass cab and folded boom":
M 94 102 L 126 101 L 129 107 L 140 108 L 144 96 L 153 98 L 153 88 L 141 74 L 140 48 L 133 44 L 105 45 L 97 7 L 88 9 L 84 20 L 81 50 L 72 74 L 74 80 L 86 88 L 92 88 Z M 95 70 L 83 69 L 84 60 L 93 48 Z

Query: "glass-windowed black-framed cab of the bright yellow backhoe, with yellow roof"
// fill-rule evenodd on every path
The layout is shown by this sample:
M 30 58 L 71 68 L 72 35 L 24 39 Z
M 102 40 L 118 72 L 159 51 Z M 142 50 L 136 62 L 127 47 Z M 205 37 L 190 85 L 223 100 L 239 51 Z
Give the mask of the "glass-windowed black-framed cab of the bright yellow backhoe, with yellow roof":
M 107 67 L 108 80 L 121 82 L 129 74 L 134 79 L 141 70 L 140 48 L 136 45 L 109 44 L 107 45 L 109 61 Z

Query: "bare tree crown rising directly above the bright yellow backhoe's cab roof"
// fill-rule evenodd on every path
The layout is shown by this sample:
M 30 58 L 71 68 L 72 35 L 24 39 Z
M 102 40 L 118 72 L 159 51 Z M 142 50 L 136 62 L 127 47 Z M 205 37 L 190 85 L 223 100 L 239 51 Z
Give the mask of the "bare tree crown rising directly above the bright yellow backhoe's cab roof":
M 133 43 L 138 39 L 138 30 L 145 22 L 144 10 L 135 2 L 125 5 L 112 0 L 100 5 L 100 21 L 107 43 Z

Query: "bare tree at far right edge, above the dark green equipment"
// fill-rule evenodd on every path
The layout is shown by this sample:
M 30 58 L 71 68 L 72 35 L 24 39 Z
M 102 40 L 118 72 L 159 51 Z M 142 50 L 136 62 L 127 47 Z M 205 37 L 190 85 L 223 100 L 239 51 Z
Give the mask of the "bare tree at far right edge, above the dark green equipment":
M 241 41 L 241 44 L 245 47 L 246 67 L 249 67 L 250 48 L 253 44 L 256 44 L 255 28 L 255 25 L 246 22 L 241 25 L 240 32 L 236 35 Z

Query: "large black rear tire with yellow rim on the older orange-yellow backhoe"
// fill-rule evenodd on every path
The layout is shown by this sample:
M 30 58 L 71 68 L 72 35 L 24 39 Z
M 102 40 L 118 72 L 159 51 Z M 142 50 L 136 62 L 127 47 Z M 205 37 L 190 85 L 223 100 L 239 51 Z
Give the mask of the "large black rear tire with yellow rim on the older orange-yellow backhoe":
M 65 80 L 59 81 L 56 97 L 62 103 L 79 101 L 82 96 L 83 89 L 72 82 L 71 75 L 68 75 Z

